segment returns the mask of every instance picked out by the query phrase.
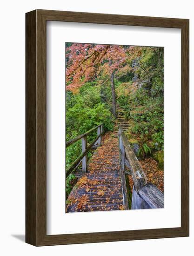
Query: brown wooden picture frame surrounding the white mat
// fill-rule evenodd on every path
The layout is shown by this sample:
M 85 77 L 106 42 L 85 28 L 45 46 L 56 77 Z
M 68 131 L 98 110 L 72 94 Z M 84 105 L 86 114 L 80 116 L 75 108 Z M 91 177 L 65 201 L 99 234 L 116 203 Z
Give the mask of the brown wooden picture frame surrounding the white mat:
M 181 227 L 47 235 L 48 20 L 181 29 Z M 26 243 L 35 246 L 189 236 L 189 20 L 34 10 L 26 13 Z

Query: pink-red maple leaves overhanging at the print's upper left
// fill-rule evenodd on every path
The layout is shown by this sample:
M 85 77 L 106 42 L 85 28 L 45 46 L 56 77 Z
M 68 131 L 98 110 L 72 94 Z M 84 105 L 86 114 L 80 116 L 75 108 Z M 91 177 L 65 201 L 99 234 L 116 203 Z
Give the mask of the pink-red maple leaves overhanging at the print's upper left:
M 127 56 L 140 54 L 141 47 L 74 43 L 66 49 L 66 88 L 76 93 L 85 82 L 94 80 L 102 67 L 111 74 L 126 67 Z

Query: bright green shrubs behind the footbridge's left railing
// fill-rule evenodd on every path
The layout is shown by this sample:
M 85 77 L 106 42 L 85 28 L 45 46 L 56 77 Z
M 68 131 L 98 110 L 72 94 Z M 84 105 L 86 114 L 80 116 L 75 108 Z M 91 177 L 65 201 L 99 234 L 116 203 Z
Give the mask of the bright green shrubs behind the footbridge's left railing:
M 100 87 L 94 82 L 87 82 L 80 88 L 79 94 L 66 94 L 66 141 L 83 134 L 103 123 L 103 131 L 114 128 L 114 118 L 110 109 L 100 100 Z M 97 136 L 97 129 L 87 136 L 91 143 Z M 66 167 L 81 154 L 81 141 L 77 141 L 66 149 Z M 88 158 L 91 156 L 88 154 Z

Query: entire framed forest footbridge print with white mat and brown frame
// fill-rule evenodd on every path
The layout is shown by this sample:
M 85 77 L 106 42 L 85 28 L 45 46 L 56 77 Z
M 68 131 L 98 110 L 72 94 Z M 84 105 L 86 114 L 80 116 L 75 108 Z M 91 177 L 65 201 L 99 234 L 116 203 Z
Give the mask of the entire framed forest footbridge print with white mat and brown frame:
M 26 13 L 26 243 L 189 236 L 189 20 Z

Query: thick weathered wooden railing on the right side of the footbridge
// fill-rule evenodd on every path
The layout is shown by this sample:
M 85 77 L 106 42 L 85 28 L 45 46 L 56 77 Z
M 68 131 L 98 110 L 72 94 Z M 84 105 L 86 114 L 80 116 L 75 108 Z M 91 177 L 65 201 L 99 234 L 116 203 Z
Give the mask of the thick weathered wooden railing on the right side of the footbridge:
M 123 202 L 124 209 L 129 209 L 127 185 L 125 179 L 125 166 L 130 169 L 130 172 L 134 181 L 132 206 L 131 209 L 149 209 L 149 208 L 163 208 L 164 207 L 164 195 L 163 193 L 152 183 L 147 183 L 147 177 L 144 173 L 140 162 L 134 154 L 133 148 L 123 129 L 119 126 L 119 148 L 120 148 L 120 175 L 123 189 Z

